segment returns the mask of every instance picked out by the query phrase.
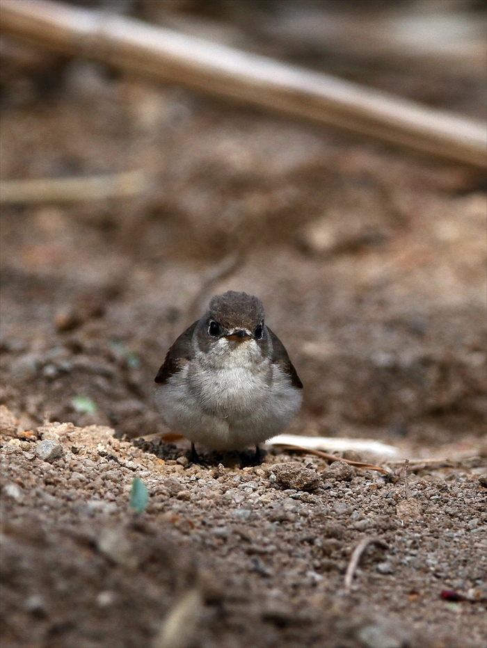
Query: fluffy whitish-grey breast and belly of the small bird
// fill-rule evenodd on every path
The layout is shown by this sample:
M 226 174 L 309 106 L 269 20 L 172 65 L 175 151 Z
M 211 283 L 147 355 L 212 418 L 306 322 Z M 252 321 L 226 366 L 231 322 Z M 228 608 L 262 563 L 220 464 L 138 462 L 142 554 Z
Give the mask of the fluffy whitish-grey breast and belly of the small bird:
M 301 405 L 301 390 L 265 362 L 255 366 L 242 354 L 241 362 L 211 371 L 186 365 L 155 389 L 165 423 L 192 442 L 221 451 L 240 450 L 280 434 Z

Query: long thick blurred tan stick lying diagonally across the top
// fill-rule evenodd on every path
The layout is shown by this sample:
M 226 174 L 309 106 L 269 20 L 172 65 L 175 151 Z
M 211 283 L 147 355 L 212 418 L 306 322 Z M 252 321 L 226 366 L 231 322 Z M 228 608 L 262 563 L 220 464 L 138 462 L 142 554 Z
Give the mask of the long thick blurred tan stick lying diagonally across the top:
M 487 168 L 483 122 L 132 18 L 0 0 L 4 34 L 211 95 Z

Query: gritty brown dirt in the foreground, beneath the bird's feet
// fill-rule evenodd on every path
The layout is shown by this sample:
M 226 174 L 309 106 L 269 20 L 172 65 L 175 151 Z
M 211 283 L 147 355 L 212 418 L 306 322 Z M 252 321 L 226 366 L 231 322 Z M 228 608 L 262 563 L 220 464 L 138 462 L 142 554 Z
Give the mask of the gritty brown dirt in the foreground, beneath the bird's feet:
M 7 410 L 2 425 L 4 647 L 484 643 L 481 461 L 423 466 L 406 492 L 404 479 L 316 457 L 201 467 L 110 428 L 26 434 Z M 171 449 L 177 459 L 157 457 Z M 141 514 L 134 476 L 150 492 Z M 367 547 L 346 589 L 365 537 L 385 544 Z M 158 642 L 188 591 L 199 604 Z

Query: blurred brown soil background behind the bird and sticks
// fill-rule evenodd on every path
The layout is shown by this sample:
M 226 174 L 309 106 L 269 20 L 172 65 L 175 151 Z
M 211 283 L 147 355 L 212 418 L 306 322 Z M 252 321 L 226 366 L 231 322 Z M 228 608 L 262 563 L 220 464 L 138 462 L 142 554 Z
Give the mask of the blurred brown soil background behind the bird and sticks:
M 481 2 L 116 5 L 485 118 Z M 1 179 L 149 178 L 136 198 L 1 209 L 0 403 L 24 430 L 47 416 L 119 438 L 167 432 L 154 375 L 211 295 L 233 289 L 260 297 L 305 386 L 290 432 L 485 455 L 483 174 L 0 46 Z

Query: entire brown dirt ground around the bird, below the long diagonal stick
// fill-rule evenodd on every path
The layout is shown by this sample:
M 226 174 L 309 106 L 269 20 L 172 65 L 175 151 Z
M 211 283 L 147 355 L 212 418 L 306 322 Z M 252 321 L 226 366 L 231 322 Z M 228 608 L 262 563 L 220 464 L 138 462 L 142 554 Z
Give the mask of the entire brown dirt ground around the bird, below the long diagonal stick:
M 147 177 L 1 209 L 2 648 L 485 645 L 484 178 L 2 47 L 2 179 Z M 403 65 L 426 100 L 434 74 Z M 434 103 L 483 118 L 475 70 Z M 289 432 L 397 446 L 360 457 L 388 476 L 272 449 L 193 465 L 160 440 L 154 376 L 227 289 L 260 297 L 303 380 Z

